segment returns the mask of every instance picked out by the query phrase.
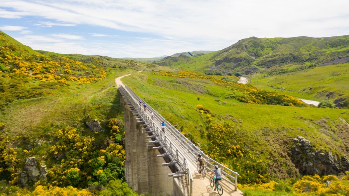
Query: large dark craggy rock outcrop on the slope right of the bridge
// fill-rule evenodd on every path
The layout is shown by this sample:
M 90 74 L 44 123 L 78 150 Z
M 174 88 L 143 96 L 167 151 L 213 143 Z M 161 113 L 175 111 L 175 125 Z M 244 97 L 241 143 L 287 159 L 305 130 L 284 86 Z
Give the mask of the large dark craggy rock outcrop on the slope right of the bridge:
M 310 141 L 297 136 L 293 139 L 291 160 L 303 175 L 329 175 L 339 174 L 348 170 L 348 159 L 338 157 L 331 151 L 315 150 Z

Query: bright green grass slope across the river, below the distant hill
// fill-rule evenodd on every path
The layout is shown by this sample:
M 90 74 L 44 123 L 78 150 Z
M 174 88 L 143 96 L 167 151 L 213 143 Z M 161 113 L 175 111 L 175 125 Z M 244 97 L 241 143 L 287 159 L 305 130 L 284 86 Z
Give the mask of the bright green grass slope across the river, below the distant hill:
M 324 100 L 334 92 L 336 98 L 349 97 L 349 63 L 315 67 L 313 69 L 292 72 L 279 76 L 252 76 L 254 86 L 298 98 Z M 326 91 L 327 93 L 322 93 Z M 341 95 L 341 96 L 340 96 Z

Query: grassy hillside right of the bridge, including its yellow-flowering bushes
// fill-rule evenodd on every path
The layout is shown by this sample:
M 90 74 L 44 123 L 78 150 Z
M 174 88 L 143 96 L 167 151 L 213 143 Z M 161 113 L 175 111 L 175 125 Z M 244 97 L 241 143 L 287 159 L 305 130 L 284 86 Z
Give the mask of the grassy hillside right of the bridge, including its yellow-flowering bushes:
M 246 103 L 231 95 L 251 94 L 252 86 L 187 73 L 142 72 L 123 81 L 210 157 L 241 174 L 240 183 L 300 177 L 290 158 L 297 135 L 315 149 L 349 156 L 347 109 Z

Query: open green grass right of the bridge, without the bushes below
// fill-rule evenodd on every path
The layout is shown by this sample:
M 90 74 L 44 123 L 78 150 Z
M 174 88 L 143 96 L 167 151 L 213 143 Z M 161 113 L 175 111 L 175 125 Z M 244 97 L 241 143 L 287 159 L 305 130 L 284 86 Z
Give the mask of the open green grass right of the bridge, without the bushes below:
M 185 80 L 188 83 L 199 84 L 208 93 L 198 93 L 190 89 L 190 86 L 181 85 L 176 88 L 176 83 Z M 347 109 L 326 109 L 316 107 L 290 107 L 280 105 L 246 104 L 234 99 L 223 98 L 229 94 L 229 89 L 213 85 L 204 80 L 178 79 L 140 73 L 123 79 L 125 84 L 132 87 L 134 91 L 144 98 L 149 104 L 159 111 L 172 124 L 183 126 L 184 132 L 194 136 L 195 141 L 202 145 L 207 144 L 206 138 L 200 137 L 199 128 L 195 126 L 203 124 L 196 105 L 201 104 L 216 114 L 215 121 L 233 124 L 239 131 L 243 132 L 244 138 L 249 138 L 245 143 L 253 145 L 253 141 L 260 140 L 256 133 L 268 127 L 271 130 L 284 130 L 287 137 L 301 135 L 312 143 L 327 146 L 336 151 L 332 144 L 343 145 L 339 139 L 334 142 L 329 135 L 319 133 L 319 126 L 313 122 L 322 118 L 338 121 L 344 118 L 349 121 Z M 155 82 L 154 82 L 155 81 Z M 172 81 L 169 82 L 169 81 Z M 175 82 L 177 81 L 177 82 Z M 200 99 L 197 100 L 197 97 Z M 216 99 L 219 99 L 217 102 Z M 224 103 L 223 103 L 224 102 Z M 227 118 L 228 116 L 229 119 Z M 236 122 L 240 121 L 240 122 Z M 199 127 L 199 126 L 198 126 Z M 241 141 L 243 138 L 239 138 Z M 335 146 L 336 146 L 335 145 Z M 259 148 L 259 147 L 256 147 Z

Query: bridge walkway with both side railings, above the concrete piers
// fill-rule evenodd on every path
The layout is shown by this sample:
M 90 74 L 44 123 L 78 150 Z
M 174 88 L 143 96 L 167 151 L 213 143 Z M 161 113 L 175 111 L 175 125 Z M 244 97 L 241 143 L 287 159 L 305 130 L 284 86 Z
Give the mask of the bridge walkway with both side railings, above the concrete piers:
M 139 123 L 144 126 L 145 133 L 148 133 L 153 140 L 152 144 L 156 147 L 153 149 L 162 149 L 164 154 L 158 155 L 159 157 L 169 157 L 172 160 L 169 163 L 164 163 L 163 166 L 174 166 L 176 169 L 173 174 L 169 176 L 187 177 L 187 185 L 189 188 L 188 193 L 192 196 L 212 196 L 218 195 L 216 191 L 209 185 L 209 173 L 213 170 L 214 165 L 219 165 L 222 169 L 223 180 L 220 184 L 223 187 L 223 196 L 241 196 L 242 192 L 236 187 L 238 174 L 230 169 L 219 164 L 215 160 L 205 155 L 198 147 L 196 147 L 190 140 L 185 138 L 179 130 L 168 122 L 163 116 L 161 116 L 155 109 L 153 109 L 148 103 L 137 96 L 127 86 L 120 86 L 119 90 L 126 102 L 134 110 L 136 117 L 140 120 Z M 139 104 L 139 100 L 142 104 Z M 143 104 L 147 104 L 145 110 Z M 154 112 L 154 117 L 151 117 L 151 112 Z M 161 131 L 161 122 L 165 121 L 166 129 L 165 133 Z M 206 161 L 206 177 L 203 178 L 197 171 L 197 155 L 201 154 Z

